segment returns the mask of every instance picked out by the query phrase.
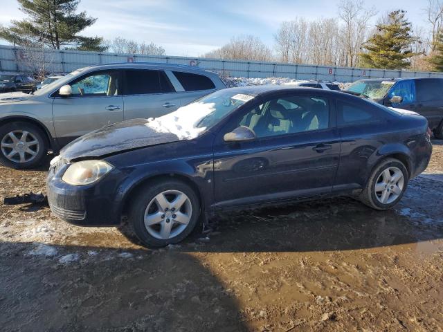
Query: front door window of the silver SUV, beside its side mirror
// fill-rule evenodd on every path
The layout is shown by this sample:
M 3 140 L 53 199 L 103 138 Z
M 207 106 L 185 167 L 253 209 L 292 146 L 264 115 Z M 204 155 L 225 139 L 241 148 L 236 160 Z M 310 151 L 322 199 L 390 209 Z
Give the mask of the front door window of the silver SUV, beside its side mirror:
M 102 97 L 120 94 L 118 71 L 100 71 L 71 82 L 73 97 Z

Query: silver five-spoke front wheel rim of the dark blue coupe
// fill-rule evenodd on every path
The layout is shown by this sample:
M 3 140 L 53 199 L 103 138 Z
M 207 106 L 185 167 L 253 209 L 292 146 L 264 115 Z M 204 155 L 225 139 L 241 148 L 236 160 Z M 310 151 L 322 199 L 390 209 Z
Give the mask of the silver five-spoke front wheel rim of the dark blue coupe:
M 157 194 L 147 205 L 145 228 L 156 239 L 172 239 L 188 227 L 191 216 L 189 197 L 179 190 L 166 190 Z

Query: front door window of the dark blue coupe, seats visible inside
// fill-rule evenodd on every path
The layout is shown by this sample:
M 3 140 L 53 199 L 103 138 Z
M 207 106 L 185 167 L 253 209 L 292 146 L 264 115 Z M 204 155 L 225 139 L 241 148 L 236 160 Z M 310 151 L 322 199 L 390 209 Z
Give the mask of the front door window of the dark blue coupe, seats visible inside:
M 329 102 L 301 95 L 269 100 L 246 113 L 239 125 L 252 129 L 257 138 L 327 129 Z

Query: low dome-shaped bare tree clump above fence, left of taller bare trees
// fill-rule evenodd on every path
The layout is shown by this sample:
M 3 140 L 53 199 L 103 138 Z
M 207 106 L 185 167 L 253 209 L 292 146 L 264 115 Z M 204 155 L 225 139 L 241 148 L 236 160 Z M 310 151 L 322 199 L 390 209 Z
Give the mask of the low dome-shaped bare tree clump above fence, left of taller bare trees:
M 241 35 L 231 38 L 228 44 L 206 53 L 204 57 L 270 61 L 272 53 L 260 38 L 252 35 Z

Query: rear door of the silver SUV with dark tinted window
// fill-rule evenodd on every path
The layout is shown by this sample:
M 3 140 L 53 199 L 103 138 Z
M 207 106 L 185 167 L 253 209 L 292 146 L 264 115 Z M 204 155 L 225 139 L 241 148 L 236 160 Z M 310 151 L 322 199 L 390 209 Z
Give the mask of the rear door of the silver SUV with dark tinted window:
M 157 118 L 180 107 L 180 96 L 162 70 L 127 69 L 125 119 Z

